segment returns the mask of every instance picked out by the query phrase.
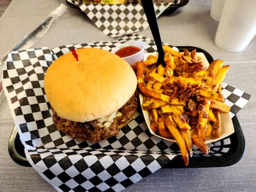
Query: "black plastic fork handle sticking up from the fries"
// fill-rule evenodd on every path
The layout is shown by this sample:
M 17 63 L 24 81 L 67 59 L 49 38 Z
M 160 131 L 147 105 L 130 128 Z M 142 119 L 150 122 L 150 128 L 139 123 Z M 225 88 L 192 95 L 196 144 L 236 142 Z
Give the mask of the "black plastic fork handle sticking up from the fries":
M 164 50 L 162 47 L 162 41 L 159 33 L 158 28 L 158 20 L 156 16 L 156 12 L 154 9 L 153 0 L 141 0 L 144 12 L 146 14 L 147 22 L 149 24 L 151 33 L 153 35 L 153 38 L 155 40 L 156 46 L 158 48 L 158 58 L 164 58 Z M 162 63 L 165 64 L 165 63 Z

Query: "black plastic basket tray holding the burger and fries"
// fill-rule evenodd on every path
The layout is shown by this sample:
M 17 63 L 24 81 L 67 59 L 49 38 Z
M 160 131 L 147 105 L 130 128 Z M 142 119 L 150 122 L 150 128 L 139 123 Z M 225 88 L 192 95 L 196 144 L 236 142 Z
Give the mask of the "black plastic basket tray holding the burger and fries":
M 209 62 L 213 61 L 210 54 L 201 48 L 189 46 L 177 48 L 179 48 L 180 51 L 183 51 L 183 49 L 188 49 L 189 51 L 196 49 L 197 52 L 204 53 Z M 232 118 L 232 122 L 235 132 L 218 142 L 212 143 L 214 146 L 211 147 L 211 151 L 208 156 L 205 156 L 203 153 L 193 154 L 193 157 L 189 158 L 189 165 L 185 166 L 182 157 L 178 155 L 163 168 L 226 167 L 237 163 L 244 155 L 245 139 L 236 116 Z M 177 150 L 178 153 L 179 147 L 177 144 L 173 144 L 171 147 L 173 150 Z M 21 166 L 31 167 L 25 157 L 24 146 L 20 141 L 20 137 L 15 126 L 13 127 L 9 139 L 8 150 L 14 162 Z

